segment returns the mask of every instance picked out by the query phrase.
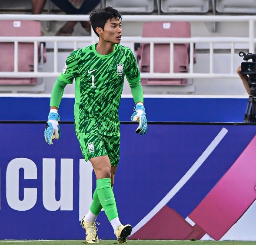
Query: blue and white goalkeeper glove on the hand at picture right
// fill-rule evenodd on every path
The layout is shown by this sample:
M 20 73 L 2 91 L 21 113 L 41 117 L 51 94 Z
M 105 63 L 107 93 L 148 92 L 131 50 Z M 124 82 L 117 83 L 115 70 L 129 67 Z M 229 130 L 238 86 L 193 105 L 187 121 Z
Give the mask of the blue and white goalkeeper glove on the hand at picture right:
M 136 129 L 136 133 L 143 135 L 146 134 L 147 131 L 147 120 L 146 120 L 146 111 L 143 105 L 136 105 L 133 109 L 135 111 L 132 116 L 132 121 L 137 121 L 139 123 L 139 127 Z

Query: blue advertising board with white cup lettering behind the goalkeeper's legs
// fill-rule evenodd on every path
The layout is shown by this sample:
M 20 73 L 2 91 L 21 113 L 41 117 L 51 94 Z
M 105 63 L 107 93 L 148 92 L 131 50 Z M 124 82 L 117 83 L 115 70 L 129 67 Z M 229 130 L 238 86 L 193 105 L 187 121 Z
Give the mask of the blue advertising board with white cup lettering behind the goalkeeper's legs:
M 73 126 L 61 125 L 61 139 L 49 146 L 43 139 L 44 123 L 0 123 L 4 139 L 0 147 L 1 239 L 84 239 L 80 219 L 88 210 L 96 181 L 91 164 L 85 163 L 80 153 Z M 190 239 L 193 229 L 198 232 L 200 227 L 194 228 L 187 217 L 251 144 L 256 127 L 151 124 L 143 136 L 135 134 L 135 128 L 134 124 L 120 127 L 120 166 L 114 186 L 120 220 L 133 226 L 131 238 Z M 251 165 L 246 174 L 256 171 L 254 152 L 247 158 Z M 233 175 L 229 184 L 240 177 Z M 242 188 L 246 192 L 245 186 Z M 231 188 L 221 199 L 239 198 L 236 193 Z M 255 190 L 253 195 L 256 199 Z M 239 203 L 234 202 L 232 207 L 236 206 Z M 221 229 L 219 222 L 207 233 L 214 236 L 221 230 L 223 240 L 256 240 L 256 219 L 250 219 L 256 213 L 256 203 L 242 211 L 229 230 Z M 159 217 L 161 222 L 156 225 Z M 145 218 L 146 230 L 141 225 Z M 97 222 L 101 239 L 115 239 L 103 212 Z M 150 232 L 150 225 L 165 234 Z M 197 234 L 197 240 L 206 233 L 204 226 L 201 229 L 204 233 Z M 158 233 L 162 237 L 153 237 Z

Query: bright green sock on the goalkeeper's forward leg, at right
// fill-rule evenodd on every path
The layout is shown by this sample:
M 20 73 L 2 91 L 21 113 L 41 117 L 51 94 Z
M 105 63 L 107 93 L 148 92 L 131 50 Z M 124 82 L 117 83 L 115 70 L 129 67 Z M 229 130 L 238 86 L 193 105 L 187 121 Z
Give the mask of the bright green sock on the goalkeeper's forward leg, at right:
M 106 213 L 108 220 L 118 217 L 116 200 L 111 187 L 111 179 L 104 178 L 97 180 L 97 193 L 101 205 Z

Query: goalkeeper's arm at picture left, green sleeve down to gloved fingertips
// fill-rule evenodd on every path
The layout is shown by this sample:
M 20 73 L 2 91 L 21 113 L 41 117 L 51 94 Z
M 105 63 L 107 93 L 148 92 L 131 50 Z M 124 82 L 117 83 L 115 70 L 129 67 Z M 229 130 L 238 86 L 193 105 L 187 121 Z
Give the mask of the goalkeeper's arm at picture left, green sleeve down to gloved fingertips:
M 50 113 L 44 130 L 44 138 L 49 145 L 53 144 L 54 139 L 60 139 L 60 125 L 58 123 L 60 121 L 60 115 L 58 114 L 58 109 L 65 86 L 66 82 L 63 82 L 60 79 L 57 79 L 53 85 L 53 91 L 50 99 Z

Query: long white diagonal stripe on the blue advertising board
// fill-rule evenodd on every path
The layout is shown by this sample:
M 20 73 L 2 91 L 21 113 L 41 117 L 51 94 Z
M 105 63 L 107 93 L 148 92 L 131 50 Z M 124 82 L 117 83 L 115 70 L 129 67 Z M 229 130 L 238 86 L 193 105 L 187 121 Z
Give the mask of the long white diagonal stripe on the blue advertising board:
M 223 127 L 219 134 L 213 139 L 211 144 L 206 148 L 203 154 L 196 160 L 196 162 L 190 167 L 190 169 L 184 174 L 184 176 L 173 186 L 173 189 L 170 190 L 169 193 L 137 224 L 133 227 L 133 231 L 131 235 L 137 232 L 143 225 L 150 221 L 153 216 L 156 215 L 160 209 L 165 206 L 173 196 L 186 184 L 186 182 L 193 176 L 194 173 L 199 169 L 199 167 L 203 164 L 203 162 L 209 157 L 209 155 L 213 152 L 216 146 L 220 143 L 220 141 L 224 138 L 228 130 Z

